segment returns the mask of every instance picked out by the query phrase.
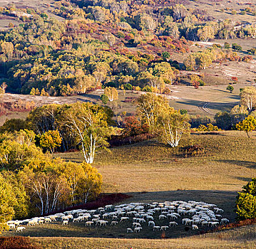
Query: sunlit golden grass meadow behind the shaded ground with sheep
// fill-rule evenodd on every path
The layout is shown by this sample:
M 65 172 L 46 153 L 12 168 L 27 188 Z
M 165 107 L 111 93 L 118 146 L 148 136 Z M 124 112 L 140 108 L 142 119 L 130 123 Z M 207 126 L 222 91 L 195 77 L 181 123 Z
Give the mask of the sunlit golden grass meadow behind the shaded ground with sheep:
M 205 155 L 184 157 L 182 147 L 200 144 Z M 221 190 L 240 191 L 255 176 L 256 139 L 243 132 L 193 134 L 181 148 L 140 142 L 98 154 L 94 166 L 103 175 L 105 192 Z M 82 161 L 79 152 L 57 154 Z

